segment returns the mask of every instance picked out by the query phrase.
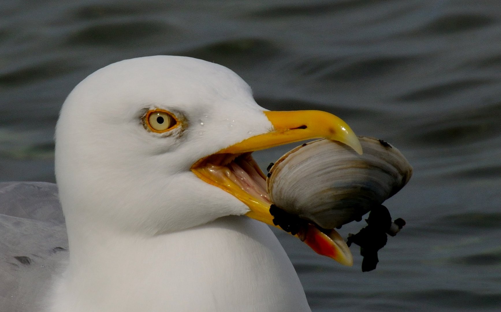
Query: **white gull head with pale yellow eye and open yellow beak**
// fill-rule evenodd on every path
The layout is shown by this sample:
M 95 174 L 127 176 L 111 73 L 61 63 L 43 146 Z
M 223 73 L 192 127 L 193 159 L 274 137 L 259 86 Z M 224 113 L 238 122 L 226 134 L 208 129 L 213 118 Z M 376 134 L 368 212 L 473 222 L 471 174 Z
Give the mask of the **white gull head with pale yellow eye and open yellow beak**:
M 319 137 L 361 152 L 340 118 L 264 109 L 223 66 L 136 58 L 96 71 L 66 99 L 56 128 L 56 179 L 69 225 L 144 235 L 228 215 L 273 225 L 266 176 L 250 153 Z

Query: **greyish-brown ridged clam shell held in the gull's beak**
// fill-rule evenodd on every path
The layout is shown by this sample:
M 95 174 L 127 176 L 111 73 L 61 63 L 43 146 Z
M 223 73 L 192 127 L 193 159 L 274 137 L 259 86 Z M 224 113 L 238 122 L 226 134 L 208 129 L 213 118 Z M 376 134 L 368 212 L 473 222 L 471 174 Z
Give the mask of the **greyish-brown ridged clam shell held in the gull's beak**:
M 400 151 L 359 136 L 363 154 L 328 139 L 298 146 L 280 158 L 267 179 L 270 200 L 283 210 L 333 229 L 396 194 L 412 176 Z

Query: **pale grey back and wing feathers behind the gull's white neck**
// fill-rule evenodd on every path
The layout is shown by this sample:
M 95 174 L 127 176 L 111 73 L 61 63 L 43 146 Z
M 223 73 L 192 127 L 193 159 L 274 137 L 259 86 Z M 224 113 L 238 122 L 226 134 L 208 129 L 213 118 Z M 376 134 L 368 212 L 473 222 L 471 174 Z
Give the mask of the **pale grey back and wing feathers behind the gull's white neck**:
M 0 307 L 38 312 L 68 257 L 68 237 L 53 183 L 0 183 Z

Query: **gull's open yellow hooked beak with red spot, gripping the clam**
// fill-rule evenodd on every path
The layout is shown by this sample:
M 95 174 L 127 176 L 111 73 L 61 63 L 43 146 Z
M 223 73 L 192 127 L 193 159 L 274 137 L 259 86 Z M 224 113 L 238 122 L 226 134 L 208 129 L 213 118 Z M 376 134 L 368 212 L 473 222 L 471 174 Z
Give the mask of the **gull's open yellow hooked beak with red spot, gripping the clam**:
M 313 138 L 327 138 L 345 143 L 359 154 L 362 153 L 362 146 L 350 126 L 333 114 L 317 110 L 264 113 L 274 127 L 272 131 L 249 137 L 201 159 L 192 166 L 191 171 L 203 181 L 230 193 L 247 205 L 250 210 L 246 216 L 275 226 L 267 194 L 256 196 L 256 192 L 249 192 L 238 181 L 231 179 L 230 169 L 227 167 L 229 163 L 237 157 L 243 158 L 246 171 L 254 173 L 249 174 L 249 178 L 254 176 L 254 180 L 260 180 L 256 183 L 259 185 L 258 189 L 264 189 L 263 192 L 266 193 L 266 177 L 250 157 L 252 151 Z M 345 265 L 353 264 L 348 246 L 335 230 L 326 234 L 309 224 L 302 231 L 300 238 L 317 253 Z

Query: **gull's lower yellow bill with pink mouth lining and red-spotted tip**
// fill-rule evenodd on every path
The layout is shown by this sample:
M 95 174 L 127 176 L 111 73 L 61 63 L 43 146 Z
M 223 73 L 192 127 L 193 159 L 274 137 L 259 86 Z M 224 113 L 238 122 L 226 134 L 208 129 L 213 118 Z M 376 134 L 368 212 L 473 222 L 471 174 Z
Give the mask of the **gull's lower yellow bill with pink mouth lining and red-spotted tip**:
M 201 180 L 230 193 L 247 205 L 250 209 L 246 214 L 248 217 L 285 229 L 283 225 L 278 226 L 274 222 L 275 217 L 270 210 L 273 203 L 267 193 L 266 176 L 252 158 L 251 152 L 216 153 L 196 162 L 191 171 Z M 299 220 L 299 231 L 291 234 L 319 254 L 344 265 L 353 264 L 352 254 L 336 230 L 322 229 L 297 216 L 294 219 Z

